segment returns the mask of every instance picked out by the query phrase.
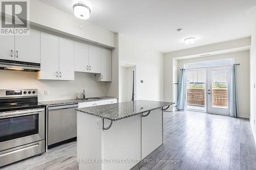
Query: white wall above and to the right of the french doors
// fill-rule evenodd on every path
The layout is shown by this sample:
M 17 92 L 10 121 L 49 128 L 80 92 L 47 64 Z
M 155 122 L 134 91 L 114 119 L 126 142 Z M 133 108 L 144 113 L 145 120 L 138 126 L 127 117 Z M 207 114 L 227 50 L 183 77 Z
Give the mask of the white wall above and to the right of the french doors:
M 203 61 L 213 61 L 233 58 L 234 62 L 240 63 L 237 66 L 238 74 L 238 102 L 241 117 L 250 117 L 250 52 L 236 52 L 222 55 L 198 57 L 185 60 L 178 60 L 178 70 L 184 68 L 184 64 Z M 180 71 L 178 71 L 180 73 Z M 178 76 L 176 76 L 178 77 Z M 177 80 L 176 80 L 177 81 Z

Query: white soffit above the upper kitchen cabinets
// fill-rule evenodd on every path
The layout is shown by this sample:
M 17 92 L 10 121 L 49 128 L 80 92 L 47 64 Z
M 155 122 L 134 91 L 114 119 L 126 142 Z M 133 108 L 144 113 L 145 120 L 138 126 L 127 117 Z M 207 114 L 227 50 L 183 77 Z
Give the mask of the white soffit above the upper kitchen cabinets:
M 116 45 L 115 33 L 38 0 L 30 1 L 30 21 L 108 46 L 115 47 Z

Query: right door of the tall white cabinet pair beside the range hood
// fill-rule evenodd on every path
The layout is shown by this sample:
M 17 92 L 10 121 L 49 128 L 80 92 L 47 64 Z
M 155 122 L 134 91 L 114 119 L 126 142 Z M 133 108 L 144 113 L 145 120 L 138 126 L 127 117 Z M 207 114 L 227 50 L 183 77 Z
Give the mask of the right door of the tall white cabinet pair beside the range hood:
M 59 80 L 74 80 L 74 41 L 59 37 Z

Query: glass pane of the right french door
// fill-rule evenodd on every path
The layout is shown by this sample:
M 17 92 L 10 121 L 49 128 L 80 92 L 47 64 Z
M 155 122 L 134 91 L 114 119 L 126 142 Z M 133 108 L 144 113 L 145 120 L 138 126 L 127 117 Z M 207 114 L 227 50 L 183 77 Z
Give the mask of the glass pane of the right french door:
M 228 70 L 212 70 L 212 107 L 228 108 Z

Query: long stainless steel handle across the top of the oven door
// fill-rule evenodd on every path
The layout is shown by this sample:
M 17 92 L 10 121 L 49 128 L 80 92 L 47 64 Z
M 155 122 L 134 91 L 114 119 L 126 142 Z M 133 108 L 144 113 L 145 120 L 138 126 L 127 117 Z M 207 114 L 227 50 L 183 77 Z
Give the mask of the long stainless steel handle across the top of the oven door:
M 0 119 L 3 118 L 10 118 L 10 117 L 17 117 L 17 116 L 27 116 L 37 113 L 45 113 L 45 109 L 31 109 L 31 110 L 21 110 L 21 111 L 14 111 L 14 112 L 5 112 L 0 114 Z

